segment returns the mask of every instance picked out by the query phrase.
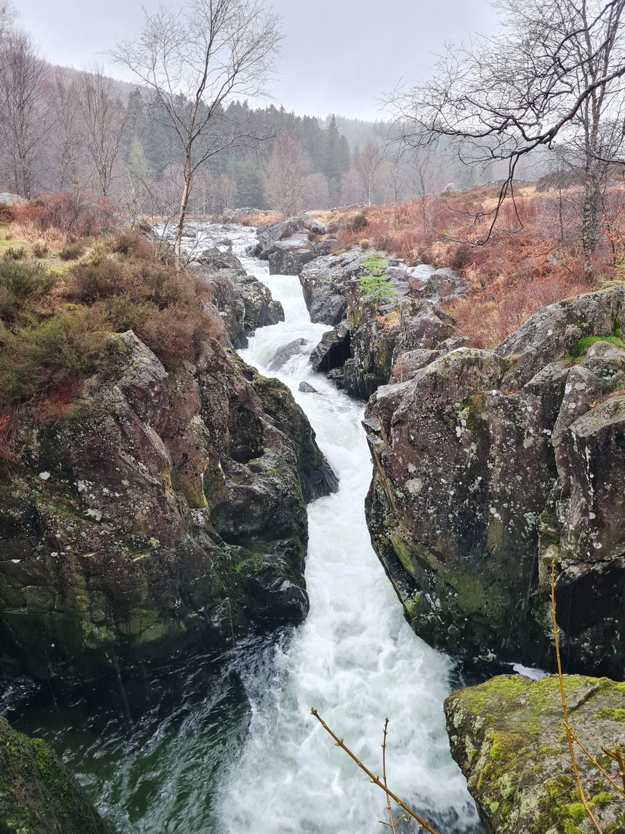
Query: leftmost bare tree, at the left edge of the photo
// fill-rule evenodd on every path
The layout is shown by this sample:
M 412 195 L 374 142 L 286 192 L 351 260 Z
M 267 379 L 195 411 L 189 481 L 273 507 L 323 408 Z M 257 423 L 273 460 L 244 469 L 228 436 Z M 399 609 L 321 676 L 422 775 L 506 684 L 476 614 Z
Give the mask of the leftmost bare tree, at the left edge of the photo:
M 9 29 L 0 43 L 0 135 L 7 175 L 31 198 L 42 148 L 47 66 L 27 33 Z

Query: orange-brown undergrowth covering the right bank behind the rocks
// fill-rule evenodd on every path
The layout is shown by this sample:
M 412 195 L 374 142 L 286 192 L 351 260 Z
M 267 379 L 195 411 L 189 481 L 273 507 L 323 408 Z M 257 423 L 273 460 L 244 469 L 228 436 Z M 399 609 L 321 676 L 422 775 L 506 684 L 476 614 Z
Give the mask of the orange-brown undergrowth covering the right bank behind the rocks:
M 337 251 L 372 247 L 439 269 L 457 269 L 468 285 L 448 309 L 476 347 L 492 347 L 545 304 L 620 278 L 625 242 L 625 190 L 606 195 L 601 239 L 591 257 L 578 241 L 580 195 L 517 189 L 502 205 L 490 237 L 498 188 L 429 195 L 399 206 L 337 212 Z M 485 239 L 488 240 L 484 243 Z M 443 288 L 444 289 L 444 288 Z M 444 294 L 444 293 L 443 293 Z

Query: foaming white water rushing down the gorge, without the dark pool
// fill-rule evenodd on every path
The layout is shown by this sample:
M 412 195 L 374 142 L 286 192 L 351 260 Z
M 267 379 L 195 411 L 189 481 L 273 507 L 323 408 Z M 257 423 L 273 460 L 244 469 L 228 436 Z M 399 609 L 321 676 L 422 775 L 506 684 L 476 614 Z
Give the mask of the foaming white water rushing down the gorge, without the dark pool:
M 246 241 L 239 229 L 238 254 Z M 380 830 L 379 820 L 388 819 L 382 791 L 333 745 L 311 707 L 375 773 L 382 772 L 388 716 L 392 789 L 444 831 L 479 830 L 448 751 L 443 700 L 451 664 L 409 628 L 369 540 L 364 500 L 372 465 L 360 423 L 363 407 L 313 374 L 308 354 L 328 328 L 311 324 L 297 277 L 270 277 L 266 264 L 252 259 L 246 267 L 283 303 L 286 321 L 259 329 L 243 359 L 293 391 L 340 488 L 308 507 L 308 619 L 286 648 L 276 648 L 269 677 L 258 669 L 243 676 L 252 716 L 243 751 L 223 773 L 218 831 Z M 276 349 L 298 338 L 308 340 L 302 354 L 278 373 L 268 372 Z M 300 393 L 303 379 L 318 393 Z

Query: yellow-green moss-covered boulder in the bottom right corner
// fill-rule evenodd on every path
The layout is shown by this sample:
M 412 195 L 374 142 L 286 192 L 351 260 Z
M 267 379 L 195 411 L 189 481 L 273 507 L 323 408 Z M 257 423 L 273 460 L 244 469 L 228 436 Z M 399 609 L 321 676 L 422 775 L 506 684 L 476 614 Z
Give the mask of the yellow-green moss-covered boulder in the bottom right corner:
M 565 676 L 572 728 L 607 772 L 602 753 L 625 743 L 625 684 Z M 499 676 L 445 701 L 453 758 L 490 834 L 592 831 L 572 779 L 557 677 Z M 622 831 L 625 806 L 609 782 L 577 751 L 587 800 L 602 831 Z

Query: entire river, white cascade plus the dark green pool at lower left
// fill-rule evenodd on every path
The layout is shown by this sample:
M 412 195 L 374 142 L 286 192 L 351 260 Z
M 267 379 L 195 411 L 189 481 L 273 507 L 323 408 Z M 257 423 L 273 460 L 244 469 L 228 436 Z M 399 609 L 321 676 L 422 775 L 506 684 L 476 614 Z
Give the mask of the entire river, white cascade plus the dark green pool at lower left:
M 253 231 L 229 232 L 242 254 Z M 297 277 L 243 263 L 286 321 L 259 329 L 240 353 L 288 384 L 340 478 L 337 494 L 308 506 L 308 619 L 124 681 L 123 693 L 108 685 L 63 703 L 45 688 L 14 696 L 7 717 L 52 743 L 120 834 L 369 834 L 388 819 L 383 793 L 311 708 L 375 773 L 388 716 L 389 786 L 440 834 L 480 831 L 448 751 L 453 665 L 408 627 L 369 541 L 363 404 L 313 374 L 308 354 L 328 328 L 311 324 Z M 302 352 L 268 372 L 278 347 L 300 338 Z M 300 393 L 303 380 L 317 393 Z

